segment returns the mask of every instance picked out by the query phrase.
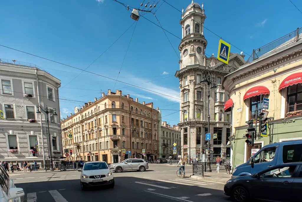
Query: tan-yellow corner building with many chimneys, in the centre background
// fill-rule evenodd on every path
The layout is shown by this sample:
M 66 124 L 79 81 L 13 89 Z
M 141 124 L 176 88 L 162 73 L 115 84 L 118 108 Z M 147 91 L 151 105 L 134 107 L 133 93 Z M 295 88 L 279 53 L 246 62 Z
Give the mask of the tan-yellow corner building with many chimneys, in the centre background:
M 63 151 L 69 153 L 63 156 L 69 161 L 108 163 L 135 156 L 155 159 L 159 155 L 159 120 L 153 103 L 140 103 L 120 90 L 108 90 L 107 95 L 102 93 L 100 99 L 85 103 L 82 109 L 76 107 L 74 114 L 61 120 Z

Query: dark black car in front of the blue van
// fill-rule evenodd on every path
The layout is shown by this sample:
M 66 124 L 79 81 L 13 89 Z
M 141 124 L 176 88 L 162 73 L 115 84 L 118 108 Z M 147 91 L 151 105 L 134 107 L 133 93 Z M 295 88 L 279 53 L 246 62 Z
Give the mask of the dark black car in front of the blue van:
M 301 191 L 302 162 L 275 165 L 256 174 L 230 179 L 224 185 L 224 194 L 237 202 L 250 199 L 298 202 Z

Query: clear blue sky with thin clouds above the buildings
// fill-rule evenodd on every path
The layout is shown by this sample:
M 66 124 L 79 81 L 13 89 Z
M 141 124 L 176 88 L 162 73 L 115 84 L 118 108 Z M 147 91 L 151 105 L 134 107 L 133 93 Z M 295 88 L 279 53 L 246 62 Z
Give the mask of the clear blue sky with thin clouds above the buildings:
M 136 8 L 143 2 L 120 1 Z M 191 3 L 191 0 L 166 1 L 179 10 Z M 302 10 L 302 1 L 292 2 Z M 252 49 L 301 27 L 302 14 L 287 0 L 204 0 L 203 3 L 207 16 L 204 27 L 240 48 L 231 47 L 231 52 L 244 51 L 246 59 Z M 181 13 L 162 0 L 157 8 L 156 17 L 162 27 L 181 38 Z M 129 11 L 112 0 L 14 0 L 3 1 L 0 9 L 1 45 L 80 69 L 88 67 L 134 22 Z M 153 14 L 146 13 L 144 17 L 158 24 Z M 5 47 L 0 47 L 0 58 L 36 64 L 59 78 L 63 87 L 59 92 L 60 98 L 76 100 L 60 101 L 62 117 L 73 112 L 75 106 L 82 106 L 84 102 L 100 97 L 101 92 L 106 93 L 108 89 L 122 90 L 123 94 L 138 97 L 141 102 L 153 102 L 154 107 L 161 109 L 179 109 L 179 83 L 174 74 L 179 69 L 180 40 L 167 33 L 177 51 L 176 55 L 162 29 L 140 18 L 121 67 L 134 27 L 135 24 L 87 70 L 116 79 L 121 68 L 118 80 L 174 96 L 175 99 L 154 95 L 153 92 L 133 86 L 127 87 L 129 85 L 120 82 L 115 85 L 113 80 L 86 72 L 70 82 L 82 71 Z M 208 41 L 206 54 L 214 53 L 216 56 L 220 37 L 210 31 L 204 30 Z M 173 112 L 176 111 L 162 110 L 162 116 L 165 116 L 163 120 L 177 124 L 179 113 L 171 114 Z

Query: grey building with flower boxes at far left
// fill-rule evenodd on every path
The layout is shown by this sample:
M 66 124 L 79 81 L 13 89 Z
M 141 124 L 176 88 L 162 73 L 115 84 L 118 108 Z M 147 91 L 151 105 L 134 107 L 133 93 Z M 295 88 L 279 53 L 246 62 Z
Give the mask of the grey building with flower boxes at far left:
M 0 160 L 46 163 L 62 157 L 59 87 L 61 81 L 34 64 L 0 59 Z M 56 109 L 58 117 L 37 107 Z M 38 146 L 36 146 L 38 145 Z M 36 151 L 39 150 L 39 151 Z

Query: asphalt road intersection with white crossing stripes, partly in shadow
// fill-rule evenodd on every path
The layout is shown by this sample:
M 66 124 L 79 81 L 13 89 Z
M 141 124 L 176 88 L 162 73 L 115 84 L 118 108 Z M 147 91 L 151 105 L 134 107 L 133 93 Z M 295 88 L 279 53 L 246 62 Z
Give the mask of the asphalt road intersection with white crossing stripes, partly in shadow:
M 186 166 L 186 175 L 192 173 Z M 145 172 L 114 173 L 115 187 L 81 191 L 80 172 L 18 172 L 10 174 L 17 187 L 24 189 L 24 202 L 138 201 L 200 202 L 230 201 L 223 194 L 223 183 L 178 178 L 176 166 L 150 165 Z

